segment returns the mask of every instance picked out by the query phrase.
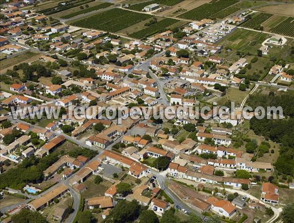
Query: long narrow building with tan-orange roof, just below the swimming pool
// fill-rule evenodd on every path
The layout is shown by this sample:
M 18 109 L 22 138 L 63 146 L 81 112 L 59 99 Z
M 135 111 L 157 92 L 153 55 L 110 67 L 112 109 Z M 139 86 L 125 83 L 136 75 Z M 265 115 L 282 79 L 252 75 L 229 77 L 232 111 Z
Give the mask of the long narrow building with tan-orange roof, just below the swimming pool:
M 53 202 L 54 198 L 60 198 L 68 191 L 68 187 L 64 184 L 57 186 L 42 197 L 36 198 L 27 204 L 30 210 L 39 211 L 46 207 L 49 203 Z

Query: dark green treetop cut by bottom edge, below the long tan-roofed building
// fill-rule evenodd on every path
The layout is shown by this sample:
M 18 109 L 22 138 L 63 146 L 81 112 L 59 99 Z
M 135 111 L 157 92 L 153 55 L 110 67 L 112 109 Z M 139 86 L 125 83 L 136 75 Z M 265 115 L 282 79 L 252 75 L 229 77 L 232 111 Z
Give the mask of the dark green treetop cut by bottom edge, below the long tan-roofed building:
M 30 211 L 27 208 L 22 209 L 19 213 L 11 216 L 13 223 L 47 223 L 46 218 L 37 211 Z

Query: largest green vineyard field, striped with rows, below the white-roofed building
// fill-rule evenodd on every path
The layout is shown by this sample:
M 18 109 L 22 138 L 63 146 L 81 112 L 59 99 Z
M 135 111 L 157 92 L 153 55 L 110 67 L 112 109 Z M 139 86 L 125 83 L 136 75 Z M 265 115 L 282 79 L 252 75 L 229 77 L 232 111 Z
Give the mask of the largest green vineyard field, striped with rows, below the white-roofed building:
M 117 32 L 131 25 L 151 18 L 151 15 L 113 8 L 97 15 L 74 22 L 72 25 Z

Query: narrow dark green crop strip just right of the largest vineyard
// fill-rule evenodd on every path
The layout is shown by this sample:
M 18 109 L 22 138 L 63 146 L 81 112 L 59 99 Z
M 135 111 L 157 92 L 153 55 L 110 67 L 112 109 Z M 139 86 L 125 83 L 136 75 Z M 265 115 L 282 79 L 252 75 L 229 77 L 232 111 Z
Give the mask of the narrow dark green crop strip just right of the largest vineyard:
M 157 32 L 159 32 L 161 29 L 166 28 L 169 25 L 172 25 L 174 23 L 178 22 L 176 19 L 164 19 L 159 21 L 158 23 L 155 23 L 153 25 L 150 25 L 147 28 L 144 28 L 140 31 L 133 32 L 130 34 L 130 37 L 136 38 L 136 39 L 142 39 L 143 37 L 151 36 Z

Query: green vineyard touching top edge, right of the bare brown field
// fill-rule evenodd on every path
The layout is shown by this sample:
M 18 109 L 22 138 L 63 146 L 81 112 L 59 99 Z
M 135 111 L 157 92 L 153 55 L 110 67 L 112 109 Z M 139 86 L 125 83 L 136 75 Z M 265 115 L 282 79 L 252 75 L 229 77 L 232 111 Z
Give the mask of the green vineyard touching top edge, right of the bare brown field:
M 239 0 L 212 0 L 209 3 L 200 5 L 199 7 L 185 12 L 177 17 L 190 20 L 202 20 L 205 18 L 213 18 L 225 8 L 237 3 Z

